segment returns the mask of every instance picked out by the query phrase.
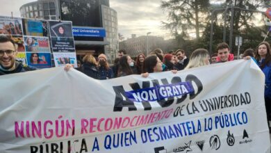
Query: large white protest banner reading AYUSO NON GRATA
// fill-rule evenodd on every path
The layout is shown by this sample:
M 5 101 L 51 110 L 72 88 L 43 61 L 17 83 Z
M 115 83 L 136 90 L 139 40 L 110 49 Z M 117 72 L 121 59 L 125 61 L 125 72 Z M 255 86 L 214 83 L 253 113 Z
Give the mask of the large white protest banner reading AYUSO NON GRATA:
M 99 81 L 74 69 L 0 77 L 0 152 L 270 152 L 254 61 Z

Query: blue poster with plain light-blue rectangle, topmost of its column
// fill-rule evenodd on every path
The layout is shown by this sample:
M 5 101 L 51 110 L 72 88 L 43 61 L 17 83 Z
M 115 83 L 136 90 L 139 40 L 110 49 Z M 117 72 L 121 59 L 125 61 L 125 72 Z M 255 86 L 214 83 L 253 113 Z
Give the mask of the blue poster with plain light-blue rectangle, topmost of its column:
M 48 37 L 48 22 L 40 19 L 22 19 L 24 35 Z

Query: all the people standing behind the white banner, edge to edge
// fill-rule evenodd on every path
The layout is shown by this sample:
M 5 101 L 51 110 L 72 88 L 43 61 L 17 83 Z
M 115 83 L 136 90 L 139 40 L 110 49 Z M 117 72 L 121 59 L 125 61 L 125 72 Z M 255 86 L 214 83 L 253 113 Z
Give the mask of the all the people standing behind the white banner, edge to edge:
M 190 69 L 192 67 L 201 67 L 204 65 L 224 63 L 233 61 L 234 56 L 230 53 L 229 45 L 222 42 L 217 45 L 217 53 L 209 55 L 206 49 L 196 49 L 192 51 L 190 58 L 186 56 L 186 51 L 177 49 L 164 54 L 161 49 L 154 49 L 149 55 L 138 54 L 133 61 L 131 56 L 126 54 L 125 50 L 118 51 L 118 58 L 114 65 L 109 66 L 105 54 L 100 54 L 97 58 L 92 54 L 84 56 L 83 61 L 79 61 L 77 70 L 94 79 L 112 79 L 115 77 L 124 77 L 131 74 L 141 74 L 142 77 L 148 77 L 149 73 L 172 71 L 176 73 L 180 70 Z M 23 65 L 16 61 L 17 50 L 15 42 L 8 36 L 0 35 L 0 75 L 13 74 L 18 72 L 27 72 L 38 70 L 33 66 Z M 33 62 L 34 56 L 33 54 Z M 268 120 L 271 120 L 271 48 L 268 42 L 261 42 L 256 49 L 246 49 L 243 56 L 245 59 L 252 59 L 265 74 L 265 106 L 268 114 Z M 38 62 L 38 61 L 36 61 Z M 69 70 L 71 65 L 65 65 L 65 70 Z

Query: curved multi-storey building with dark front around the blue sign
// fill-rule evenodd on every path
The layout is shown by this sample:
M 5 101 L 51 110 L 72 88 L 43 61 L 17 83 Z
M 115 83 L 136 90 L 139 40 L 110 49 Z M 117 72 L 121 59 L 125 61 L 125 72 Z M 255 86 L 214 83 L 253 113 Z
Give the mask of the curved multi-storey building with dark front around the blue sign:
M 79 59 L 88 53 L 104 53 L 113 63 L 117 55 L 117 12 L 110 8 L 109 0 L 38 0 L 21 6 L 20 13 L 24 18 L 72 21 L 77 29 L 105 30 L 105 35 L 74 35 Z

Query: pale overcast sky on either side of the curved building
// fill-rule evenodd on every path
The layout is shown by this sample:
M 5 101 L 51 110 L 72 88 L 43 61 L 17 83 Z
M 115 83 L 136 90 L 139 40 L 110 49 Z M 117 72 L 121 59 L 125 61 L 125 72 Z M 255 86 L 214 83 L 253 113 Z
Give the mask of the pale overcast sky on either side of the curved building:
M 19 8 L 35 0 L 1 0 L 0 15 L 20 17 Z M 131 38 L 131 34 L 163 36 L 168 38 L 170 32 L 161 29 L 161 22 L 166 21 L 166 14 L 161 10 L 161 0 L 109 0 L 110 7 L 117 11 L 118 33 L 124 38 Z

